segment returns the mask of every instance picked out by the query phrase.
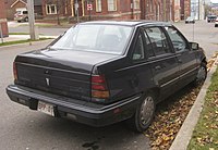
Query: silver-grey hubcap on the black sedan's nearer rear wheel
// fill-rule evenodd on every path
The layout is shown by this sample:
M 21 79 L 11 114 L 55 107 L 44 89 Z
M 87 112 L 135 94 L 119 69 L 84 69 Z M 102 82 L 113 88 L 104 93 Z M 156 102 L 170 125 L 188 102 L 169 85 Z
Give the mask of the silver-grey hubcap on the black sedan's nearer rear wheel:
M 152 97 L 146 97 L 141 107 L 141 123 L 142 125 L 147 125 L 147 123 L 152 120 L 154 113 L 155 104 L 154 99 Z

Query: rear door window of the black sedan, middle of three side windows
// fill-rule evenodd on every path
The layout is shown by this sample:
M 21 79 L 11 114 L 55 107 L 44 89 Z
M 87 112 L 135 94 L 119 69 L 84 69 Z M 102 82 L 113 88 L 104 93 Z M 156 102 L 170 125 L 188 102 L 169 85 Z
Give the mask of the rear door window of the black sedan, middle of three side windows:
M 159 27 L 146 28 L 155 55 L 171 53 L 165 33 Z

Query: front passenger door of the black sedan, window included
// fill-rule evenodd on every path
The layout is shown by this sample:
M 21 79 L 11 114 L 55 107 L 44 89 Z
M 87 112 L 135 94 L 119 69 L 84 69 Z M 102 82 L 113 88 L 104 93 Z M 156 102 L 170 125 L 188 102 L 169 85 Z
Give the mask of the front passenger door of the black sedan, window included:
M 175 27 L 168 26 L 166 30 L 172 41 L 180 64 L 180 86 L 184 86 L 196 77 L 198 70 L 196 53 L 190 49 L 187 40 Z

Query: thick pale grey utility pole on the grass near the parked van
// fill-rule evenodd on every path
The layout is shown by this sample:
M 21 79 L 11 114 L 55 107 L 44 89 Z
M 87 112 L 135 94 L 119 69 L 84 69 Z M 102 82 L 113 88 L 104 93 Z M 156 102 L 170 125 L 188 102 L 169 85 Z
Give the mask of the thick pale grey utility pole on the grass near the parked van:
M 34 0 L 27 0 L 27 10 L 28 10 L 29 35 L 31 39 L 35 40 L 36 33 L 35 33 Z

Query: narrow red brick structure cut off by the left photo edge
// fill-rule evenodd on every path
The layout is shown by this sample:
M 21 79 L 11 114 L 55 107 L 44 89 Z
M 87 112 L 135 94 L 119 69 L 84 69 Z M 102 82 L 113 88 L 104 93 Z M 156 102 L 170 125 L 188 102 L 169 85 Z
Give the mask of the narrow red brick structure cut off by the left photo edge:
M 3 37 L 9 36 L 4 1 L 0 1 L 0 24 Z

